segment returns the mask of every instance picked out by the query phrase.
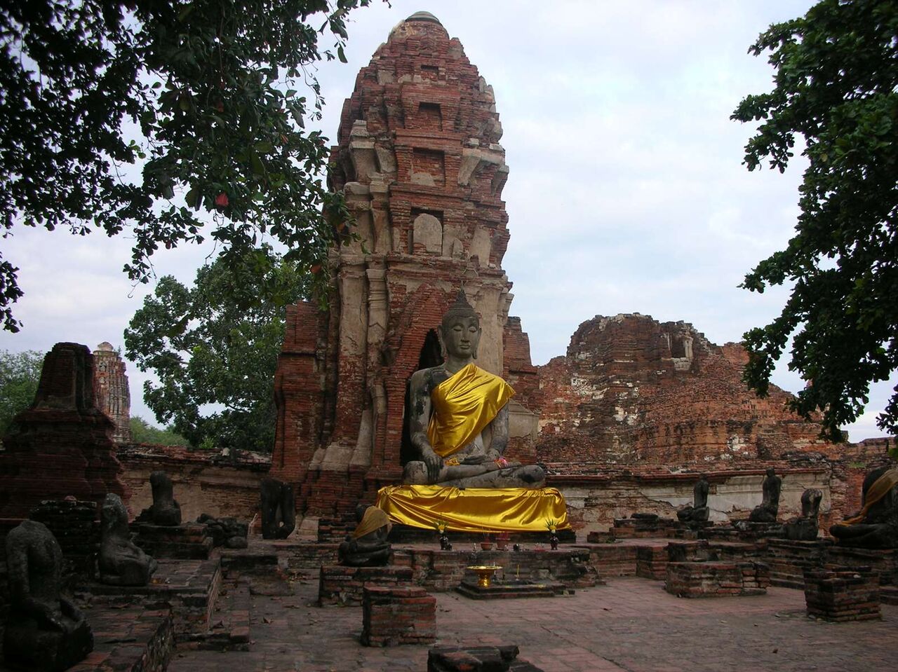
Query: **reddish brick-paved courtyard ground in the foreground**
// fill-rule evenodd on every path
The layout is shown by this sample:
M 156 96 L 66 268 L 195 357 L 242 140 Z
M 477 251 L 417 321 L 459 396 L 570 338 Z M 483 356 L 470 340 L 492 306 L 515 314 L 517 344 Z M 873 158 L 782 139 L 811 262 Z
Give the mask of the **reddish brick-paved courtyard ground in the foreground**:
M 885 670 L 898 655 L 898 607 L 881 622 L 805 616 L 804 593 L 681 599 L 659 581 L 612 579 L 564 598 L 475 601 L 437 594 L 437 643 L 514 643 L 546 672 L 567 670 Z M 292 597 L 253 597 L 249 652 L 185 651 L 172 672 L 427 669 L 427 647 L 358 643 L 361 607 L 314 607 L 317 580 Z

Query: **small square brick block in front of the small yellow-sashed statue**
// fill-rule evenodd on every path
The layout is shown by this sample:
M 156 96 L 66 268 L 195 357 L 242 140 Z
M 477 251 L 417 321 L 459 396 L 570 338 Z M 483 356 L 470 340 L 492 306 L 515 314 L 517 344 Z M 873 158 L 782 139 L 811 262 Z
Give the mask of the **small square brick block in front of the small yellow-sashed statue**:
M 365 646 L 432 644 L 436 598 L 418 587 L 365 586 L 362 643 Z

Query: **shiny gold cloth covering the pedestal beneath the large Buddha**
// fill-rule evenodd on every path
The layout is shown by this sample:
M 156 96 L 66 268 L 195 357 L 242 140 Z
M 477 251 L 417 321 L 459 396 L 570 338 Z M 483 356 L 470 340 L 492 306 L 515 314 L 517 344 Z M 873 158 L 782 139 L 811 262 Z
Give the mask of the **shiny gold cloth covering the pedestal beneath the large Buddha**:
M 568 507 L 556 488 L 465 488 L 443 485 L 387 485 L 377 506 L 392 522 L 435 528 L 445 521 L 460 532 L 545 532 L 546 521 L 569 528 Z

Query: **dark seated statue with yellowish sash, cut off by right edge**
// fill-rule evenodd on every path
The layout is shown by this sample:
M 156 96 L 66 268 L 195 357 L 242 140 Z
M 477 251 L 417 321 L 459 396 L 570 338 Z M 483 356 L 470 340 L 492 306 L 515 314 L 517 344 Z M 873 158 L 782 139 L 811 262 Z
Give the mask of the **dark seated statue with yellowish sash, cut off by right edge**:
M 898 548 L 898 468 L 874 469 L 861 486 L 862 508 L 830 528 L 839 545 Z

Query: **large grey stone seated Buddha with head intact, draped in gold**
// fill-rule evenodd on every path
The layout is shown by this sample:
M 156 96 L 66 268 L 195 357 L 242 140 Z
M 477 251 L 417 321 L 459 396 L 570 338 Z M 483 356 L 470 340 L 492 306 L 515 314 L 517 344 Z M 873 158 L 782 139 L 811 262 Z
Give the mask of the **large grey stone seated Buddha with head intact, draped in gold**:
M 475 363 L 480 317 L 459 291 L 437 330 L 444 362 L 409 381 L 409 435 L 420 459 L 405 466 L 405 484 L 471 488 L 540 488 L 541 467 L 502 457 L 508 400 L 515 390 Z

